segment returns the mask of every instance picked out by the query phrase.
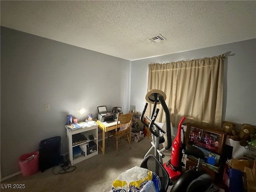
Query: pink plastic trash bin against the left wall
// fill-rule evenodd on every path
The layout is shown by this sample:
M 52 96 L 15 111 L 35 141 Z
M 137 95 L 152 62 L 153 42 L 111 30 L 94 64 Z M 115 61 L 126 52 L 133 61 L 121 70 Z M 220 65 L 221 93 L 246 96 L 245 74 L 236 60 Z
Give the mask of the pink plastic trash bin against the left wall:
M 29 176 L 39 171 L 38 168 L 39 151 L 20 156 L 19 163 L 23 176 Z

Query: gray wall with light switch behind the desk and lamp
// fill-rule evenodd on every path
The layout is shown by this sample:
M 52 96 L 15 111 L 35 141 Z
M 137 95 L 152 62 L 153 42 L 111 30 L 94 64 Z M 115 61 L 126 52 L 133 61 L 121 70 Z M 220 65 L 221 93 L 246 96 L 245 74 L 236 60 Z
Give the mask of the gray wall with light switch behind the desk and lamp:
M 1 27 L 2 177 L 43 139 L 61 136 L 67 152 L 66 116 L 78 108 L 83 120 L 101 105 L 128 112 L 130 69 L 128 60 Z

